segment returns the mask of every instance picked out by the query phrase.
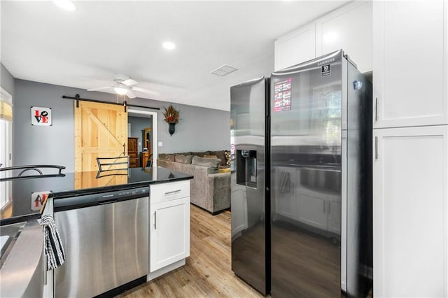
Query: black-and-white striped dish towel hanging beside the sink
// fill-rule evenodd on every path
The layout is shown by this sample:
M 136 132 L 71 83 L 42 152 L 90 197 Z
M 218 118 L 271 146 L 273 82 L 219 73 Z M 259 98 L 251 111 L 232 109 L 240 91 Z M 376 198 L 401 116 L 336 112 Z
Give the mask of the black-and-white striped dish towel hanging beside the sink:
M 47 271 L 56 269 L 65 262 L 64 248 L 57 232 L 55 220 L 51 215 L 46 214 L 41 218 L 43 227 L 43 241 L 45 247 L 45 257 L 47 257 Z

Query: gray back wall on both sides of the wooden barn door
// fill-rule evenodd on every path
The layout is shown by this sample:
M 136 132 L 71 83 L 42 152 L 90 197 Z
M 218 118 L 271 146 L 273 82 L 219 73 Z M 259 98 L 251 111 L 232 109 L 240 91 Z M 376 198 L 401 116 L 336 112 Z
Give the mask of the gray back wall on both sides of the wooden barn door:
M 101 101 L 123 101 L 115 94 L 15 79 L 13 106 L 13 162 L 20 164 L 61 164 L 74 170 L 73 101 L 62 95 Z M 229 99 L 230 100 L 230 99 Z M 230 112 L 174 104 L 180 111 L 176 132 L 169 136 L 163 120 L 164 101 L 130 99 L 129 104 L 160 108 L 158 111 L 159 153 L 201 150 L 230 150 Z M 31 106 L 52 108 L 51 127 L 31 126 Z M 151 110 L 155 111 L 155 110 Z

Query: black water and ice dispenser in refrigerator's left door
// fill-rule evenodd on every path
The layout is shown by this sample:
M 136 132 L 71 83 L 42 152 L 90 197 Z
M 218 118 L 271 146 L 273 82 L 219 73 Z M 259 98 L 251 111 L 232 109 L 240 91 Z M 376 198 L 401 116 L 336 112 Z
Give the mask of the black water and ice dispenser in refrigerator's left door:
M 257 187 L 257 150 L 237 150 L 237 184 Z

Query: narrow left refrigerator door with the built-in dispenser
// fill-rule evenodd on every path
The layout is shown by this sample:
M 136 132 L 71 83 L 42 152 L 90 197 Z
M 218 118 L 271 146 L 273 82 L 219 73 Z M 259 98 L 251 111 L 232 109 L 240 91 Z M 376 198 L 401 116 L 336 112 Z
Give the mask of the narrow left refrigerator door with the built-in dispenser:
M 270 287 L 269 80 L 230 88 L 232 270 L 264 295 Z

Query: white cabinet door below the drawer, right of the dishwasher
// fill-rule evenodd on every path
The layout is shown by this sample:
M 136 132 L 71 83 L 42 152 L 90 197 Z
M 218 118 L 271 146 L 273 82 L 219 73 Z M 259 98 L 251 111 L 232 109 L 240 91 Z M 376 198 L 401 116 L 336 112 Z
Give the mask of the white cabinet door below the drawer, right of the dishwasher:
M 190 255 L 190 198 L 150 205 L 149 271 Z

